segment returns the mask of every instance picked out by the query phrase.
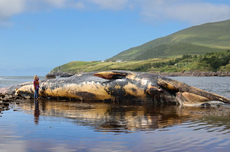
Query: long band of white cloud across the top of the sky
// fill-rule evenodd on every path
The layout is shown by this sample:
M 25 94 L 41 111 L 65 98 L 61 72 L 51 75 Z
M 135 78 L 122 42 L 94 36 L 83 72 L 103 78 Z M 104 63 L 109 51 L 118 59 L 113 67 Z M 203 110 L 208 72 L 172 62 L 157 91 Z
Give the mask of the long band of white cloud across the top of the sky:
M 176 20 L 201 24 L 230 19 L 229 3 L 210 3 L 208 0 L 0 0 L 0 25 L 10 25 L 8 19 L 23 12 L 63 8 L 132 9 L 155 22 Z

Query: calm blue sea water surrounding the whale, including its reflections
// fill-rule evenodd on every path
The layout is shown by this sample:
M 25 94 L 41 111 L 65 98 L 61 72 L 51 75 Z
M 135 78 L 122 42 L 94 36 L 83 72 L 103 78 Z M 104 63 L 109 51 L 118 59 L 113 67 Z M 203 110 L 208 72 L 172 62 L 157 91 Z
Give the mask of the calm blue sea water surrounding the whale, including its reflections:
M 0 87 L 33 77 L 0 77 Z M 40 77 L 44 79 L 44 77 Z M 173 77 L 230 98 L 230 77 Z M 227 112 L 226 112 L 227 110 Z M 225 109 L 25 100 L 0 114 L 1 152 L 229 151 Z

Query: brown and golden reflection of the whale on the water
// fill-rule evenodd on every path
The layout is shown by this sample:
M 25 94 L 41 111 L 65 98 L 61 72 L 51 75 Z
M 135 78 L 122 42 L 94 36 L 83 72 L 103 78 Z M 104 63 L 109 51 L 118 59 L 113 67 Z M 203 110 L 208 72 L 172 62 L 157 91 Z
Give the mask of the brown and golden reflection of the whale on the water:
M 40 110 L 39 110 L 39 107 Z M 54 100 L 27 101 L 21 107 L 26 113 L 34 110 L 34 122 L 39 115 L 65 118 L 81 126 L 92 126 L 98 132 L 149 131 L 198 119 L 220 109 L 201 109 L 154 104 L 114 105 L 103 102 L 61 102 Z M 217 109 L 217 108 L 215 108 Z M 217 114 L 216 114 L 217 115 Z

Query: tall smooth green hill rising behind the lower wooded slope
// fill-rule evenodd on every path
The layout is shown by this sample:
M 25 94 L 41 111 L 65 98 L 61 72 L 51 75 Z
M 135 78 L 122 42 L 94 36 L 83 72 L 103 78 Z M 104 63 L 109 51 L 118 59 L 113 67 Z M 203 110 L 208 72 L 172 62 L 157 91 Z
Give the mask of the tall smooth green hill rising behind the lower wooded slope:
M 172 58 L 184 54 L 204 54 L 230 49 L 230 20 L 193 26 L 166 37 L 125 50 L 107 59 L 145 60 Z

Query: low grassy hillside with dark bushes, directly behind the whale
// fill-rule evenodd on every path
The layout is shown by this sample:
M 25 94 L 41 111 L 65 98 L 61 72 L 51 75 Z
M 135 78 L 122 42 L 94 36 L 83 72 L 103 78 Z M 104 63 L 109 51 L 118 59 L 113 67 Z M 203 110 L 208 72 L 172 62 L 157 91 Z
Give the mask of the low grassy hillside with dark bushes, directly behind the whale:
M 126 62 L 74 61 L 54 68 L 51 72 L 91 72 L 130 70 L 139 72 L 230 71 L 230 50 L 204 55 L 183 55 L 172 59 L 148 59 Z

